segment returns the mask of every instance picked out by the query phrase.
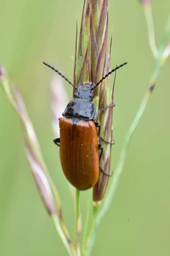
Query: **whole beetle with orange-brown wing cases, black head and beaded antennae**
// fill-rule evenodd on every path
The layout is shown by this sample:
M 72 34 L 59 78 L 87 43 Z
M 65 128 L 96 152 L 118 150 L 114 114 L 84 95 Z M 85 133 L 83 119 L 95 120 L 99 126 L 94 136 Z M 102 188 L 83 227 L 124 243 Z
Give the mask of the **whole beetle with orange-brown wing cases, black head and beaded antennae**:
M 103 153 L 103 146 L 100 144 L 101 127 L 95 120 L 102 111 L 115 106 L 113 104 L 104 107 L 96 113 L 96 107 L 92 103 L 94 99 L 93 90 L 108 75 L 127 63 L 125 62 L 110 71 L 97 84 L 85 83 L 78 84 L 78 87 L 76 87 L 57 69 L 43 62 L 44 65 L 62 76 L 76 90 L 74 99 L 69 101 L 62 114 L 63 117 L 59 118 L 60 138 L 53 141 L 60 147 L 60 160 L 64 175 L 79 190 L 94 187 L 99 179 L 100 170 L 104 172 L 100 167 L 100 158 Z M 114 144 L 108 141 L 105 142 Z M 106 172 L 104 173 L 112 176 Z

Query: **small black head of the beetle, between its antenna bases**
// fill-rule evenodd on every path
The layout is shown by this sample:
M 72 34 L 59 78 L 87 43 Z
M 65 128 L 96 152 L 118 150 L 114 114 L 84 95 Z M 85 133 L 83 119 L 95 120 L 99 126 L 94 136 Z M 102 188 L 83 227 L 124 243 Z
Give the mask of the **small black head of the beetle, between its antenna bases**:
M 87 100 L 92 102 L 94 95 L 92 92 L 92 87 L 94 84 L 79 84 L 77 92 L 74 93 L 74 99 Z

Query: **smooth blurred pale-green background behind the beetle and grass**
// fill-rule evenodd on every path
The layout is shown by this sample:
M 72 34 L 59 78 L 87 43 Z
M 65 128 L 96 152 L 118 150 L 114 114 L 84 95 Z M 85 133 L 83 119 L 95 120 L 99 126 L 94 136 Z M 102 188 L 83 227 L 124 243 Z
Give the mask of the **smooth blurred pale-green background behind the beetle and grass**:
M 74 207 L 59 154 L 53 144 L 49 84 L 55 65 L 73 81 L 76 15 L 83 0 L 1 0 L 1 61 L 22 93 L 44 159 L 58 188 L 63 216 L 74 237 Z M 117 72 L 111 170 L 144 93 L 154 62 L 144 12 L 137 0 L 108 1 L 113 25 L 111 67 Z M 153 0 L 159 45 L 169 0 Z M 110 33 L 111 34 L 111 33 Z M 109 40 L 110 40 L 109 34 Z M 57 76 L 57 74 L 56 74 Z M 113 83 L 114 76 L 111 78 Z M 72 87 L 66 84 L 71 97 Z M 41 202 L 26 159 L 18 117 L 1 91 L 1 256 L 65 256 L 67 252 Z M 93 256 L 170 255 L 170 61 L 130 142 L 111 209 L 100 226 Z M 82 217 L 87 192 L 81 193 Z

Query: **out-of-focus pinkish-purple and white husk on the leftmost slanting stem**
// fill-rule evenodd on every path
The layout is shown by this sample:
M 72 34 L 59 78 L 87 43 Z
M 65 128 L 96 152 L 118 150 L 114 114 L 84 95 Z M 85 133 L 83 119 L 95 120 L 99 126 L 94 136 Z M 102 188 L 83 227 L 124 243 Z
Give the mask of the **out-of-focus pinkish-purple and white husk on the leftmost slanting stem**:
M 3 70 L 2 67 L 1 70 Z M 13 85 L 10 88 L 5 72 L 1 71 L 1 74 L 3 74 L 1 76 L 1 81 L 2 84 L 4 84 L 5 91 L 8 92 L 8 98 L 10 99 L 12 106 L 15 108 L 15 110 L 18 113 L 18 116 L 22 121 L 21 125 L 24 134 L 24 140 L 26 143 L 26 155 L 28 157 L 28 161 L 31 166 L 31 170 L 33 172 L 33 177 L 36 182 L 37 188 L 39 190 L 44 206 L 47 209 L 48 213 L 55 214 L 56 210 L 52 191 L 48 183 L 47 177 L 45 175 L 45 172 L 43 171 L 43 167 L 41 166 L 41 163 L 38 159 L 38 154 L 36 154 L 36 152 L 41 154 L 39 143 L 37 141 L 33 125 L 29 120 L 22 96 L 16 85 Z

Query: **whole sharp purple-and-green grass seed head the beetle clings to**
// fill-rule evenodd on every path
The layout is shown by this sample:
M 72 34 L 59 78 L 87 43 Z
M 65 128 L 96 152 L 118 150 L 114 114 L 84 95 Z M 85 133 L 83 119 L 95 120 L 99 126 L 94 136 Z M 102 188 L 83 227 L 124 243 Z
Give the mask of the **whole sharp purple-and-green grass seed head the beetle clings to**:
M 85 2 L 80 27 L 78 53 L 76 39 L 74 68 L 74 84 L 76 86 L 85 82 L 97 84 L 110 71 L 110 53 L 108 58 L 106 57 L 108 47 L 108 0 L 87 0 L 86 8 Z M 95 88 L 94 96 L 93 103 L 97 109 L 98 106 L 101 109 L 112 104 L 113 92 L 110 96 L 110 76 Z M 112 141 L 112 116 L 113 108 L 109 108 L 102 112 L 97 120 L 101 124 L 101 137 L 107 141 Z M 112 145 L 103 140 L 100 140 L 100 143 L 104 146 L 100 166 L 105 172 L 110 173 Z M 103 198 L 108 180 L 109 177 L 100 172 L 99 181 L 94 187 L 94 201 L 100 201 Z

